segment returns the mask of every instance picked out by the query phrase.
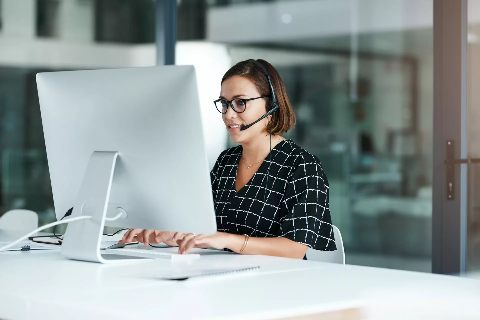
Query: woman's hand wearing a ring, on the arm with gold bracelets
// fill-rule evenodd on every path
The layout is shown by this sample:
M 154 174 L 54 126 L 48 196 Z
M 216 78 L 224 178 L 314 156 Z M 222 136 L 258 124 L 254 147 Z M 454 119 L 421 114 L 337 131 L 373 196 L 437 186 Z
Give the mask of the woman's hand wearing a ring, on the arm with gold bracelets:
M 193 235 L 184 234 L 184 237 L 177 240 L 179 253 L 187 254 L 192 248 L 215 248 L 225 249 L 231 242 L 231 234 L 225 232 L 216 232 L 213 235 Z

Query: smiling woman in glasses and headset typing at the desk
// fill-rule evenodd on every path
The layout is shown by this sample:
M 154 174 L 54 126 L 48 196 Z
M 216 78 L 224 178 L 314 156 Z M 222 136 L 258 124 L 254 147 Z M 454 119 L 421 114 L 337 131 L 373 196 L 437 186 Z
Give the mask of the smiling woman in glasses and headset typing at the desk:
M 180 254 L 213 247 L 298 259 L 309 247 L 335 250 L 320 161 L 281 136 L 295 114 L 276 69 L 261 59 L 237 63 L 223 76 L 215 105 L 230 139 L 241 143 L 223 151 L 210 173 L 216 234 L 130 229 L 120 242 L 178 244 Z

